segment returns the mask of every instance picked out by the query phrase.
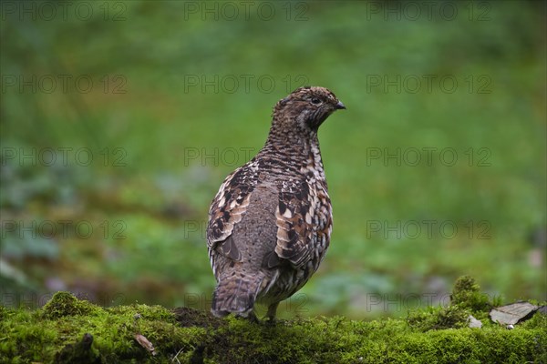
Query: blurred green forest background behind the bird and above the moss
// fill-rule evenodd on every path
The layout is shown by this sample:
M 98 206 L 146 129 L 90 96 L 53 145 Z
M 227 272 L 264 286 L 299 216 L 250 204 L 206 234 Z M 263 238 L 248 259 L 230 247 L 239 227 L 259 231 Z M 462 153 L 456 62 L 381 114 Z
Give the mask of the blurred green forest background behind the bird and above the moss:
M 424 3 L 3 2 L 2 303 L 209 309 L 209 204 L 304 85 L 347 110 L 282 317 L 403 316 L 463 274 L 545 299 L 545 5 Z

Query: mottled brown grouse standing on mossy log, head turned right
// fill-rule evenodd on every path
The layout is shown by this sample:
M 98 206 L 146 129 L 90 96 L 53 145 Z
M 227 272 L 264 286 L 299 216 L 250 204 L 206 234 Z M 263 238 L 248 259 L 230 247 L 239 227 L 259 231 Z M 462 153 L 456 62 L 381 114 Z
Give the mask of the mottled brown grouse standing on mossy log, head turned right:
M 254 317 L 302 288 L 328 248 L 332 209 L 317 129 L 346 108 L 324 87 L 300 87 L 274 107 L 264 147 L 222 183 L 207 243 L 217 287 L 212 313 Z

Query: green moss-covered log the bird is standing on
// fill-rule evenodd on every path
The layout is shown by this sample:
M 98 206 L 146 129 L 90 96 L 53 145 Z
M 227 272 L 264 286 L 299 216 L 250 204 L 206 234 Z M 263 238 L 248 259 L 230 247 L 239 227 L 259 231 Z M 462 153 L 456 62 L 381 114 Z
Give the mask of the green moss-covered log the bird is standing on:
M 463 279 L 463 280 L 462 280 Z M 405 319 L 343 317 L 253 323 L 191 308 L 100 308 L 58 292 L 40 309 L 0 307 L 1 362 L 546 363 L 547 319 L 514 329 L 488 320 L 491 302 L 460 278 L 452 302 Z M 469 316 L 482 328 L 470 329 Z

